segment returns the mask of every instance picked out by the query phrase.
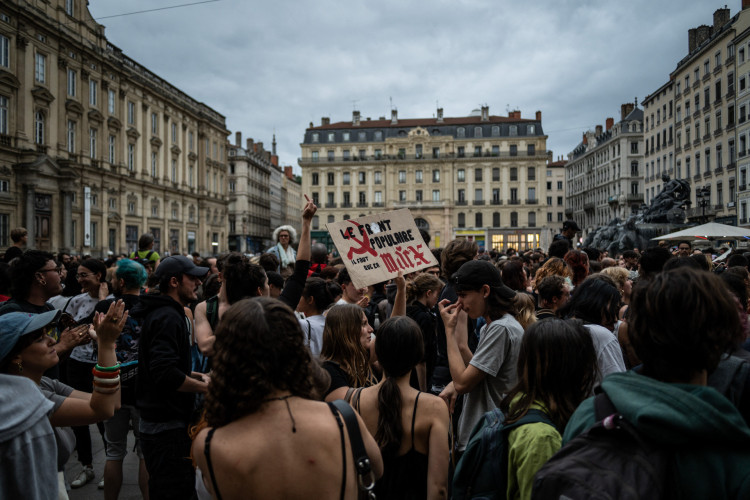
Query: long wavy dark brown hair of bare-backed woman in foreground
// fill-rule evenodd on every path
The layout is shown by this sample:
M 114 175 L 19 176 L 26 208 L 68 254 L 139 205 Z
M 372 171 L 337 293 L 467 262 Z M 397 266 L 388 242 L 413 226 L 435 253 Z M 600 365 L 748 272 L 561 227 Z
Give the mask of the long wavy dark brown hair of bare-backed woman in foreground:
M 216 328 L 205 417 L 220 427 L 260 408 L 274 391 L 316 395 L 314 367 L 292 310 L 268 297 L 241 300 Z

